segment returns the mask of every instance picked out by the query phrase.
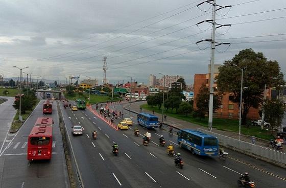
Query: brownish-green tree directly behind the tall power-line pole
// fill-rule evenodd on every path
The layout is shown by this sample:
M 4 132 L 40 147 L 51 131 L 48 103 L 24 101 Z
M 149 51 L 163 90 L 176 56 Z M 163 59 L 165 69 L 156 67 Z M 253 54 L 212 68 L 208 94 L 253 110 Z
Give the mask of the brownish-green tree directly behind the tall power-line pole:
M 204 119 L 205 115 L 208 113 L 209 108 L 209 89 L 203 84 L 200 87 L 199 93 L 196 97 L 197 109 L 195 110 L 193 116 L 199 117 L 199 119 Z M 213 111 L 216 111 L 221 105 L 221 101 L 218 95 L 213 95 Z

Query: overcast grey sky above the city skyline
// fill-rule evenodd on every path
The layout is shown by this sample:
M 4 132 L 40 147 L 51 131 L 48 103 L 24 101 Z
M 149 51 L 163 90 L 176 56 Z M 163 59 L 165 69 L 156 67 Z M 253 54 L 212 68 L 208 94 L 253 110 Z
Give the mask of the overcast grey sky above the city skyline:
M 232 44 L 228 49 L 227 45 L 217 47 L 215 63 L 222 64 L 240 50 L 252 48 L 277 60 L 286 73 L 286 1 L 242 4 L 251 1 L 217 0 L 221 6 L 235 6 L 217 12 L 217 23 L 232 26 L 217 29 L 216 40 Z M 211 19 L 209 4 L 200 6 L 201 10 L 196 7 L 201 2 L 1 1 L 0 75 L 17 77 L 19 70 L 13 66 L 29 66 L 24 71 L 33 72 L 34 78 L 40 75 L 49 80 L 65 80 L 69 75 L 80 75 L 81 79 L 96 77 L 101 83 L 105 55 L 110 83 L 127 81 L 128 76 L 147 83 L 149 74 L 158 77 L 162 73 L 183 76 L 187 84 L 193 84 L 194 74 L 207 73 L 210 62 L 209 43 L 195 44 L 211 37 L 209 23 L 196 26 Z M 237 17 L 246 14 L 252 15 Z

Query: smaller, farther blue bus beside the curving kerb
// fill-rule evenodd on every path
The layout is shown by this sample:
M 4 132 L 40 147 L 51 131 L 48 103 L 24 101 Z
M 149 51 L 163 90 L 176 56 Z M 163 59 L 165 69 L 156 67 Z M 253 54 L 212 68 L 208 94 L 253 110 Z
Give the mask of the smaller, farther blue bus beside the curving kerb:
M 159 122 L 158 117 L 156 115 L 152 115 L 146 112 L 139 113 L 137 115 L 137 121 L 139 125 L 150 128 L 158 128 Z

